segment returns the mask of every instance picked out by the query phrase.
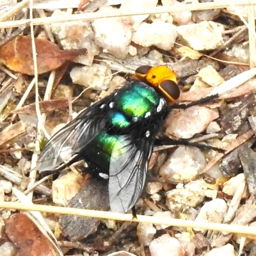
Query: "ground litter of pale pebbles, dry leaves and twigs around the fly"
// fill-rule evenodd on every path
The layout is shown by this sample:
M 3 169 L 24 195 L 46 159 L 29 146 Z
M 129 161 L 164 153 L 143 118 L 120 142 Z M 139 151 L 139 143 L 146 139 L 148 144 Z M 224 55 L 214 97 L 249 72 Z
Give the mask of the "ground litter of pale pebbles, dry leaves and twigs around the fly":
M 20 12 L 28 2 L 22 1 L 15 9 L 4 3 L 3 8 L 13 10 L 19 24 L 31 12 L 28 5 L 27 12 Z M 54 134 L 81 109 L 102 99 L 108 90 L 113 92 L 109 84 L 115 84 L 114 80 L 123 84 L 141 65 L 172 68 L 182 90 L 180 104 L 220 93 L 215 102 L 191 107 L 197 111 L 196 119 L 191 114 L 182 119 L 179 115 L 183 111 L 172 111 L 164 132 L 177 140 L 201 138 L 207 145 L 223 148 L 225 153 L 184 146 L 154 153 L 145 192 L 136 205 L 137 214 L 200 221 L 205 228 L 154 225 L 153 217 L 150 225 L 103 221 L 78 217 L 76 212 L 73 216 L 43 212 L 31 221 L 25 212 L 2 209 L 1 233 L 5 230 L 6 236 L 1 234 L 1 255 L 254 255 L 255 234 L 207 230 L 208 221 L 255 226 L 252 77 L 256 72 L 255 56 L 250 54 L 255 42 L 251 29 L 247 30 L 252 26 L 252 12 L 240 13 L 239 6 L 230 8 L 229 3 L 227 8 L 218 8 L 218 1 L 207 3 L 211 10 L 204 10 L 206 3 L 198 3 L 192 11 L 188 1 L 141 1 L 140 6 L 132 0 L 74 1 L 68 3 L 73 8 L 68 10 L 62 2 L 36 3 L 45 5 L 33 10 L 33 17 L 40 17 L 37 19 L 44 24 L 33 28 L 35 38 L 31 38 L 28 26 L 18 30 L 9 28 L 15 20 L 3 23 L 6 27 L 1 31 L 2 37 L 8 40 L 2 40 L 0 60 L 12 74 L 0 71 L 2 202 L 44 202 L 108 211 L 104 180 L 82 177 L 79 165 L 70 166 L 74 177 L 65 170 L 54 182 L 35 175 L 36 154 L 39 144 L 43 144 L 40 129 Z M 150 15 L 141 12 L 118 16 L 120 11 L 129 13 L 155 6 L 163 10 L 157 13 L 156 9 Z M 170 6 L 176 11 L 169 11 Z M 70 20 L 77 11 L 84 15 L 109 13 L 109 17 Z M 241 17 L 247 15 L 249 24 L 244 26 Z M 0 20 L 10 17 L 3 15 Z M 60 21 L 47 25 L 47 17 Z M 74 62 L 69 63 L 70 60 Z M 33 80 L 34 75 L 39 75 L 37 80 Z M 203 115 L 209 118 L 205 121 L 200 117 Z M 195 126 L 192 134 L 191 125 Z M 182 135 L 184 132 L 189 136 Z

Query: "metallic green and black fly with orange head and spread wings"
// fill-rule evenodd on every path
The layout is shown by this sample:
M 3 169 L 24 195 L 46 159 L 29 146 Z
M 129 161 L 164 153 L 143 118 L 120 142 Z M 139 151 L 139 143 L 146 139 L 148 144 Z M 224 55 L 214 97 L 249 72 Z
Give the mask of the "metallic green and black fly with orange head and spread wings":
M 156 135 L 180 95 L 166 66 L 141 66 L 135 76 L 139 81 L 83 109 L 54 134 L 36 166 L 53 172 L 84 159 L 92 175 L 108 179 L 113 212 L 129 211 L 140 198 Z

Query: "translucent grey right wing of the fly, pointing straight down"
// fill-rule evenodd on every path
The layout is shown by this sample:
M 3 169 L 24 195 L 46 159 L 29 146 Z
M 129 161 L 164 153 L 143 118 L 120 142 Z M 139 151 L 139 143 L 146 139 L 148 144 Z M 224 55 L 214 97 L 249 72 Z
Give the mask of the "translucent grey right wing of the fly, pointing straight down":
M 130 135 L 124 135 L 118 139 L 109 165 L 108 191 L 111 211 L 127 212 L 140 198 L 153 145 L 154 136 L 132 140 Z

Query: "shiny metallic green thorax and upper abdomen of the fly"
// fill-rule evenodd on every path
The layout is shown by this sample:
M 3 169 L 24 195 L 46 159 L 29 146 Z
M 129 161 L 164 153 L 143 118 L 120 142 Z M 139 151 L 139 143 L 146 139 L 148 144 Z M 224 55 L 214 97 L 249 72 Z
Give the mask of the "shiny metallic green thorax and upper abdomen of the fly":
M 110 157 L 125 151 L 122 142 L 118 141 L 120 134 L 126 134 L 124 131 L 129 131 L 131 125 L 144 122 L 147 116 L 156 111 L 160 98 L 154 88 L 140 82 L 133 82 L 119 90 L 108 106 L 110 127 L 101 131 L 88 145 L 86 155 L 90 155 L 90 159 L 86 161 L 97 159 L 102 169 L 108 170 Z M 114 132 L 109 132 L 111 127 Z M 113 152 L 114 147 L 115 152 Z

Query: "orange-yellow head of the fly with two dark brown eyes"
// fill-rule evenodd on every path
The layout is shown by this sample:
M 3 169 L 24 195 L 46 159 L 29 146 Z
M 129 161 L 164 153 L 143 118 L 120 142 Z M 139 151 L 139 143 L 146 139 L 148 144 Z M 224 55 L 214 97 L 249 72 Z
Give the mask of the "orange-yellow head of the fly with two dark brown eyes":
M 179 99 L 180 90 L 177 85 L 177 79 L 175 73 L 170 68 L 166 66 L 151 67 L 144 65 L 135 70 L 135 76 L 141 79 L 141 81 L 147 81 L 152 86 L 155 86 L 170 101 L 170 104 L 174 104 Z

